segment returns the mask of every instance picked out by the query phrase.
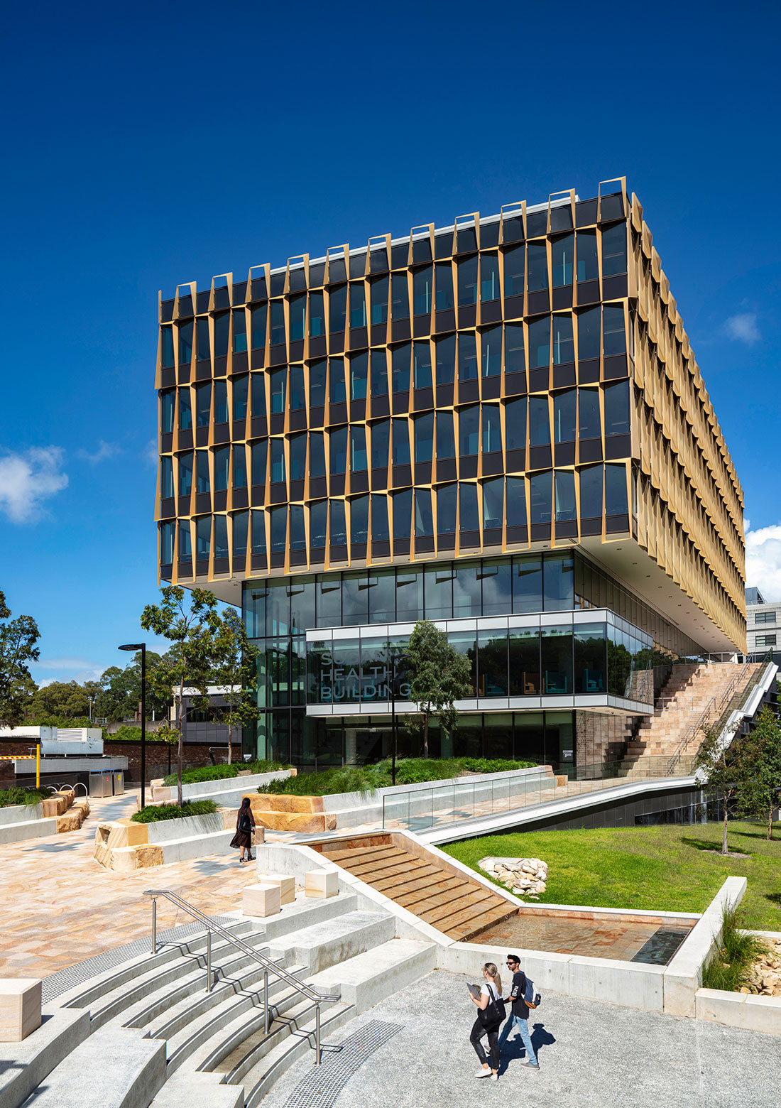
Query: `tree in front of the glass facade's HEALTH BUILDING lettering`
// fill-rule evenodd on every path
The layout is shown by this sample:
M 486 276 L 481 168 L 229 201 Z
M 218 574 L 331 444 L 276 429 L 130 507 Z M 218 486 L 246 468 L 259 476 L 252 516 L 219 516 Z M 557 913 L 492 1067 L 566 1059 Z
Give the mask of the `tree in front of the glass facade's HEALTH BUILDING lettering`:
M 442 727 L 458 727 L 455 701 L 472 687 L 469 658 L 448 642 L 445 632 L 430 619 L 419 619 L 404 654 L 412 671 L 410 700 L 418 705 L 418 718 L 408 720 L 413 731 L 423 731 L 423 757 L 429 757 L 429 724 L 436 717 Z

